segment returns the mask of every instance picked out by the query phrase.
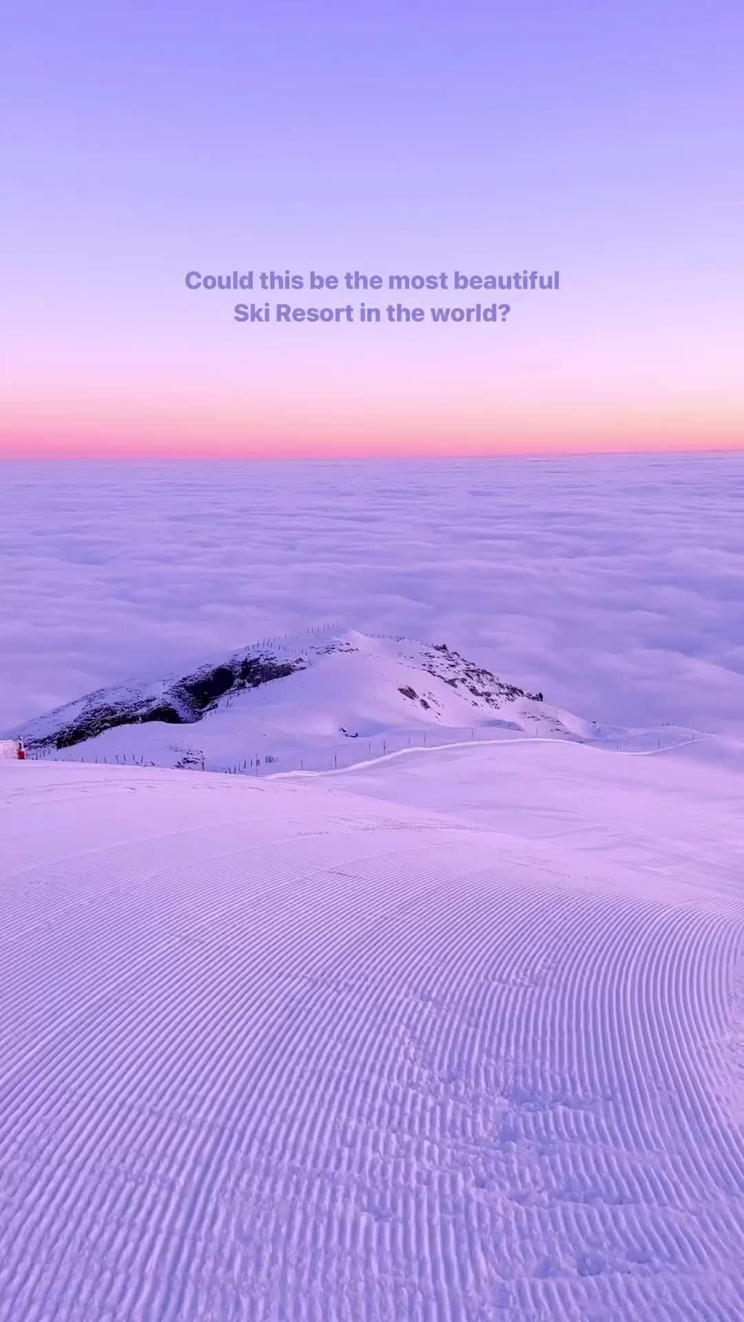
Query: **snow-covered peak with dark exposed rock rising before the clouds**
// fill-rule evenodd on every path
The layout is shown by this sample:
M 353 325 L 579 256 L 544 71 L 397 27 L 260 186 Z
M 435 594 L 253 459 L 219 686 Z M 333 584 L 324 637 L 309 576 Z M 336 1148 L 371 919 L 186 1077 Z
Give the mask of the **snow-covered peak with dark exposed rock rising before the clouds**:
M 593 738 L 590 722 L 445 642 L 324 631 L 244 648 L 191 674 L 102 689 L 12 732 L 56 758 L 244 771 L 256 760 L 342 765 L 363 748 L 380 755 L 498 731 Z

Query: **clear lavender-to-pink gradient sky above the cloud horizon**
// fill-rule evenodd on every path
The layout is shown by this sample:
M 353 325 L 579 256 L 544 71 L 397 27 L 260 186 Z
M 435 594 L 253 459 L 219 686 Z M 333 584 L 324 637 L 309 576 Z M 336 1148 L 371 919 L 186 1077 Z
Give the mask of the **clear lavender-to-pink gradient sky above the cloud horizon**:
M 741 443 L 739 4 L 32 0 L 5 45 L 0 453 Z M 250 327 L 184 287 L 286 267 L 561 290 Z

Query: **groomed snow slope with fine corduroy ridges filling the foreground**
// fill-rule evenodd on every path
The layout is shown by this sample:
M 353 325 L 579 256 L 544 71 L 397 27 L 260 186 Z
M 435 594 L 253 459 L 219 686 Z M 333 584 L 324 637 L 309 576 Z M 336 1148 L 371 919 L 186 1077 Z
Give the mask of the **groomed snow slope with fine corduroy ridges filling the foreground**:
M 348 773 L 0 772 L 3 1322 L 744 1318 L 733 888 Z

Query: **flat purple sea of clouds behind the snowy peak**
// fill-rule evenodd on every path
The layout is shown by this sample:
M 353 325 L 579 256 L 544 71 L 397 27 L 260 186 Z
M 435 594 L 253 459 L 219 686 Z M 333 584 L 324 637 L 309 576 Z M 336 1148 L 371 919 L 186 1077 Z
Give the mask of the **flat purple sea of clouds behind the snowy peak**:
M 0 730 L 328 621 L 744 734 L 744 453 L 0 465 Z

